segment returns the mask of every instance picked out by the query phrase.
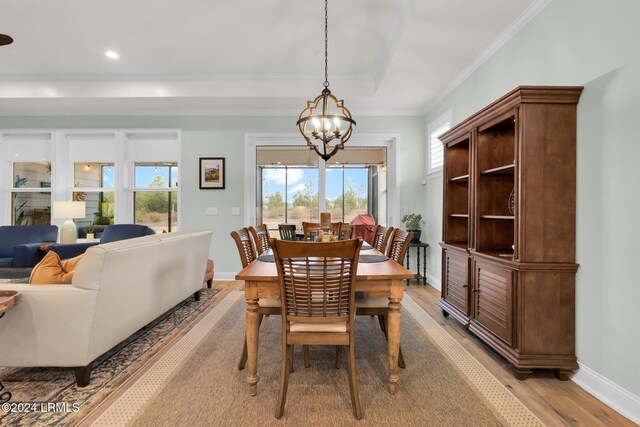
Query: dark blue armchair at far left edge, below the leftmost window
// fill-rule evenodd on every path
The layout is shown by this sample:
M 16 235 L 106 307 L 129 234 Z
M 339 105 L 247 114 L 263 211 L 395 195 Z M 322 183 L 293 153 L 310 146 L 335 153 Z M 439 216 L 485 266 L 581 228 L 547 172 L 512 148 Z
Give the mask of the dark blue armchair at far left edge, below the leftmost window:
M 44 253 L 40 245 L 55 242 L 55 225 L 7 225 L 0 227 L 0 268 L 33 267 Z

